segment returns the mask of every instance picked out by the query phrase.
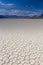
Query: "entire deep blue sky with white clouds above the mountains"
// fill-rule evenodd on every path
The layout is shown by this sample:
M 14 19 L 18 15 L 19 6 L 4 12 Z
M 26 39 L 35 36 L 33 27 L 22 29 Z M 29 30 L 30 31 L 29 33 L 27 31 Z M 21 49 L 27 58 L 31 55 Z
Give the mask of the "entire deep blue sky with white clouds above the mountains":
M 0 15 L 39 15 L 43 0 L 0 0 Z

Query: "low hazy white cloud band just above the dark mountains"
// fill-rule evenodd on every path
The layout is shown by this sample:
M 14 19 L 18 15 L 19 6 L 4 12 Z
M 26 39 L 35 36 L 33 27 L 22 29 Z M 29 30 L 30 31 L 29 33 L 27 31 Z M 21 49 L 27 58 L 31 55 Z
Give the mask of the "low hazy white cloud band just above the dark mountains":
M 25 11 L 25 10 L 6 10 L 6 9 L 0 9 L 0 14 L 3 15 L 17 15 L 17 16 L 33 16 L 33 15 L 40 15 L 39 12 L 33 12 L 33 11 Z

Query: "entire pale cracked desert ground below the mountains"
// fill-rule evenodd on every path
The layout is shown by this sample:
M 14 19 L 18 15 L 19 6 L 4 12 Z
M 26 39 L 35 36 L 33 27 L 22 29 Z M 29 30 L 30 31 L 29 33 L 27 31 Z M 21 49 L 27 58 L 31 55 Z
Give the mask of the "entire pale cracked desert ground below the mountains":
M 0 65 L 43 65 L 43 19 L 0 19 Z

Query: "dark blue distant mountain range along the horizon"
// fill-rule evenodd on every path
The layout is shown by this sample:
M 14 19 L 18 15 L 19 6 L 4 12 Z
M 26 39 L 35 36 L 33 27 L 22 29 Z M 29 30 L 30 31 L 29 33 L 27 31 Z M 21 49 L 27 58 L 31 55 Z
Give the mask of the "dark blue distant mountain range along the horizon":
M 17 16 L 17 15 L 0 15 L 0 18 L 27 18 L 27 19 L 43 19 L 43 13 L 34 16 Z

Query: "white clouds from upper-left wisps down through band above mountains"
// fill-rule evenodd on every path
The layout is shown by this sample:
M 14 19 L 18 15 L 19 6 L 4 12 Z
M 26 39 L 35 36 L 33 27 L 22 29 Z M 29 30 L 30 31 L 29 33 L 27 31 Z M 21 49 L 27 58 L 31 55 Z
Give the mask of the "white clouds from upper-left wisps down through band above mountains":
M 17 15 L 17 16 L 33 16 L 40 15 L 42 10 L 29 11 L 29 10 L 17 10 L 14 9 L 14 4 L 12 3 L 2 3 L 0 2 L 0 15 Z

